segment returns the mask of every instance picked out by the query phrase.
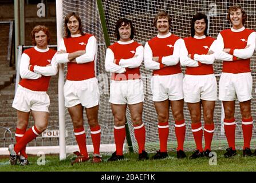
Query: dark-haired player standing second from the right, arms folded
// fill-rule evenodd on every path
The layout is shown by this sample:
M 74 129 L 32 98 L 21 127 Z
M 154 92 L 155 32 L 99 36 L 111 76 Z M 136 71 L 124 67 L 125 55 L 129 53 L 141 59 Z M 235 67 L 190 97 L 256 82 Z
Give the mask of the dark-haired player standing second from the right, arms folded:
M 191 129 L 196 144 L 196 151 L 190 156 L 191 159 L 209 157 L 214 134 L 214 106 L 218 97 L 212 63 L 215 60 L 216 41 L 207 35 L 207 29 L 207 16 L 202 13 L 195 14 L 191 21 L 191 37 L 184 38 L 180 46 L 180 64 L 186 66 L 183 79 L 184 101 L 190 111 Z M 204 119 L 204 150 L 201 106 Z

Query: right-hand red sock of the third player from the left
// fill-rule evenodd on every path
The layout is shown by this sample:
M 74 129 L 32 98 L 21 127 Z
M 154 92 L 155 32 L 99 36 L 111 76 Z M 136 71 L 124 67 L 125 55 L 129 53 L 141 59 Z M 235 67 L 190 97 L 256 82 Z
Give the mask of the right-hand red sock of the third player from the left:
M 134 134 L 139 146 L 139 154 L 142 153 L 142 150 L 145 150 L 145 138 L 146 138 L 146 130 L 145 125 L 142 123 L 141 125 L 133 125 L 134 126 Z

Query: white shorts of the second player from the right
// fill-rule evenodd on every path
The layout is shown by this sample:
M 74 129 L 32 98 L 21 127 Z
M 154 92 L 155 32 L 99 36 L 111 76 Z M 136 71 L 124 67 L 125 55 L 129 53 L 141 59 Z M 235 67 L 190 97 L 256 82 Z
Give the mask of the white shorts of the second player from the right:
M 189 103 L 205 101 L 216 101 L 217 81 L 214 74 L 188 75 L 183 79 L 184 101 Z

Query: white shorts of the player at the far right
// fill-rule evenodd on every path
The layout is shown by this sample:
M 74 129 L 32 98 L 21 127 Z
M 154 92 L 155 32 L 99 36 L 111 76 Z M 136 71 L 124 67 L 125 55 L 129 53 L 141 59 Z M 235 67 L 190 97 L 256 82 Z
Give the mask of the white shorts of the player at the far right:
M 219 100 L 239 102 L 251 100 L 253 77 L 251 73 L 222 73 L 219 79 Z

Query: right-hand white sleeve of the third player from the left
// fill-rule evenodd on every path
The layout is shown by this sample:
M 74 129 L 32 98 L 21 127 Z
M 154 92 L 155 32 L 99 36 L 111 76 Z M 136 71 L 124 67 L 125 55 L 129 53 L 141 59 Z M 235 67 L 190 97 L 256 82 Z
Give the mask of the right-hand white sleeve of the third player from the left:
M 143 54 L 144 54 L 144 49 L 143 46 L 138 46 L 136 48 L 135 55 L 137 57 L 132 57 L 128 59 L 120 59 L 119 65 L 122 67 L 128 67 L 128 68 L 137 68 L 141 65 L 143 61 Z

